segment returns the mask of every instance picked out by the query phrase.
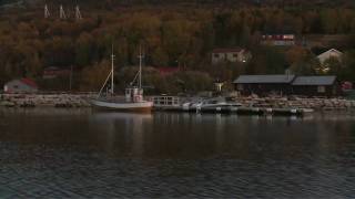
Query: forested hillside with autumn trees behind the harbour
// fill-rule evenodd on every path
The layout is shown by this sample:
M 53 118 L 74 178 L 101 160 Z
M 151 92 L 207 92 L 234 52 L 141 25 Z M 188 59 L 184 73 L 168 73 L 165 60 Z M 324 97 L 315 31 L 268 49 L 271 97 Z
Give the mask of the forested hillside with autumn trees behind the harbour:
M 83 17 L 80 20 L 73 13 L 75 1 Z M 212 85 L 205 80 L 231 82 L 240 74 L 281 74 L 290 67 L 297 74 L 316 74 L 320 64 L 313 50 L 262 45 L 264 33 L 286 31 L 297 39 L 346 38 L 329 46 L 338 49 L 336 44 L 347 43 L 339 49 L 346 62 L 329 63 L 328 74 L 355 82 L 355 9 L 345 8 L 346 3 L 329 6 L 345 0 L 308 1 L 45 0 L 51 15 L 44 18 L 44 0 L 27 0 L 21 11 L 0 10 L 0 85 L 16 77 L 41 81 L 47 67 L 73 66 L 75 88 L 97 91 L 108 74 L 112 43 L 119 69 L 134 69 L 131 66 L 136 65 L 139 46 L 144 49 L 145 65 L 155 70 L 151 76 L 144 75 L 144 81 L 161 93 L 184 90 L 175 85 L 182 81 L 200 91 Z M 239 7 L 240 3 L 247 6 Z M 68 18 L 60 19 L 60 4 Z M 211 51 L 215 48 L 244 48 L 251 51 L 252 59 L 245 64 L 213 65 Z M 166 66 L 192 73 L 169 77 L 156 74 L 156 69 Z M 120 82 L 129 83 L 135 73 L 119 74 Z M 68 81 L 55 85 L 68 87 Z

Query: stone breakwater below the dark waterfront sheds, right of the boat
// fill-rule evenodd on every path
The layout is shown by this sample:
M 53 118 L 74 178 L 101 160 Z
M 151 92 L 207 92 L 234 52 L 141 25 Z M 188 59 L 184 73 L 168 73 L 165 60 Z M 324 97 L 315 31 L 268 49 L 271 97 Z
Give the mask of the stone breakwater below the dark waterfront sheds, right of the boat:
M 317 97 L 237 97 L 242 106 L 272 108 L 313 108 L 315 111 L 355 111 L 355 101 Z

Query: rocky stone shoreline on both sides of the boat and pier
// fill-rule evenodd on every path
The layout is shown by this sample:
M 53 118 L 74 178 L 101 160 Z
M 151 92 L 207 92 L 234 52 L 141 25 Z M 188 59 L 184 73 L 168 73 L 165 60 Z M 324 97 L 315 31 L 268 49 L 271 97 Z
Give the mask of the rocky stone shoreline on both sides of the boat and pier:
M 3 107 L 91 107 L 93 93 L 81 94 L 0 94 Z M 315 111 L 355 111 L 355 101 L 321 97 L 233 97 L 243 107 L 312 108 Z

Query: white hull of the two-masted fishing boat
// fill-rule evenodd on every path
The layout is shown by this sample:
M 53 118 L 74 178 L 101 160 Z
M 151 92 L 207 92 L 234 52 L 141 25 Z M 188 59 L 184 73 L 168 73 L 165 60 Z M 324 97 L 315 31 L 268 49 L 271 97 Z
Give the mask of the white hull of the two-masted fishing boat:
M 121 112 L 150 112 L 153 107 L 153 102 L 134 102 L 134 103 L 118 103 L 91 100 L 90 103 L 98 108 L 121 111 Z

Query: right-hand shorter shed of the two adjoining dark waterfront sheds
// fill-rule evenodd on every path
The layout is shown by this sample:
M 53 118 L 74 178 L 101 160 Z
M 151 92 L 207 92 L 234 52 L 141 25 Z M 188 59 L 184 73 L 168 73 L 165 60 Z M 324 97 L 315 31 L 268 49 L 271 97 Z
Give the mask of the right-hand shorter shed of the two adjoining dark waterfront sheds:
M 292 83 L 293 94 L 306 96 L 336 96 L 342 92 L 336 76 L 298 76 Z

